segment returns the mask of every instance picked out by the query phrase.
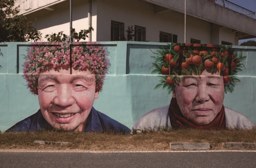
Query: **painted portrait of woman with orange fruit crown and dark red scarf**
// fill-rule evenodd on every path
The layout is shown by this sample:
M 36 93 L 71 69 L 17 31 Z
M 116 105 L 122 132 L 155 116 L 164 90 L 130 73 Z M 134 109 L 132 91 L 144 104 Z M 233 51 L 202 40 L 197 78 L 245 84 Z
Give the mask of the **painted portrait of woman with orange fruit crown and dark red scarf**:
M 246 116 L 223 105 L 225 93 L 232 93 L 240 82 L 236 75 L 245 58 L 229 46 L 172 43 L 153 63 L 153 72 L 160 74 L 155 89 L 167 88 L 170 104 L 144 114 L 133 129 L 255 128 Z

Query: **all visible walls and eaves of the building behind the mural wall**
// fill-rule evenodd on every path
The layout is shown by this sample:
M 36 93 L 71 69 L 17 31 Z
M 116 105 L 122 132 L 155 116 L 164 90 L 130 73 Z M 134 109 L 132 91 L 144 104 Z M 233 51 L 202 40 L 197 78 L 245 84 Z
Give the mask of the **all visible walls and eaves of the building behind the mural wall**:
M 64 31 L 63 33 L 66 35 L 70 34 L 69 1 L 56 4 L 54 8 L 56 10 L 52 12 L 42 9 L 27 15 L 28 20 L 33 20 L 36 16 L 34 24 L 41 31 L 42 37 L 60 31 Z M 88 29 L 88 2 L 73 1 L 72 10 L 73 27 L 76 31 Z M 146 27 L 146 41 L 158 42 L 159 33 L 163 31 L 178 35 L 178 43 L 183 43 L 184 14 L 175 11 L 155 14 L 154 10 L 154 5 L 138 0 L 92 0 L 92 27 L 94 28 L 92 41 L 110 41 L 111 20 L 114 20 L 123 22 L 125 29 L 131 25 Z M 235 33 L 231 29 L 223 29 L 221 33 L 216 32 L 217 34 L 214 32 L 218 29 L 212 29 L 210 22 L 187 16 L 186 42 L 190 43 L 190 38 L 193 38 L 205 44 L 221 44 L 221 40 L 236 44 Z M 217 35 L 220 36 L 220 39 L 214 40 Z M 86 39 L 86 41 L 88 40 Z M 47 40 L 43 38 L 42 41 Z

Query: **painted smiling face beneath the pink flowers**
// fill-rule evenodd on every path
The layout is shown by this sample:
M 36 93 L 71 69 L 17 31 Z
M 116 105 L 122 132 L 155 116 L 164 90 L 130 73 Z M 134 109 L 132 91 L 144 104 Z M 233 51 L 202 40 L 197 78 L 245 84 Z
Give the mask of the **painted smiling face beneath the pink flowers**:
M 87 71 L 47 70 L 38 78 L 38 100 L 42 115 L 50 125 L 83 131 L 92 109 L 95 76 Z

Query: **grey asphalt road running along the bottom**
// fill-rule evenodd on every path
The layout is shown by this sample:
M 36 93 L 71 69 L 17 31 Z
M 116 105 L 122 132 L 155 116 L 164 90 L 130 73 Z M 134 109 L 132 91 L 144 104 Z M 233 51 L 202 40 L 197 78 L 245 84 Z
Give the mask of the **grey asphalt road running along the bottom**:
M 0 152 L 1 168 L 255 168 L 256 152 Z

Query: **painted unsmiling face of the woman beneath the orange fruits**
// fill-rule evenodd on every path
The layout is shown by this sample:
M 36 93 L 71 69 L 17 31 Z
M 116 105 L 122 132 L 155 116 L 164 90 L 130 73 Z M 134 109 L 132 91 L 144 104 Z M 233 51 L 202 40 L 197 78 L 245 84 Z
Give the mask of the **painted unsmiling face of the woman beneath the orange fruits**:
M 186 119 L 207 125 L 220 112 L 224 100 L 223 77 L 204 70 L 199 76 L 184 76 L 172 95 Z

